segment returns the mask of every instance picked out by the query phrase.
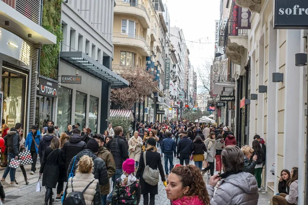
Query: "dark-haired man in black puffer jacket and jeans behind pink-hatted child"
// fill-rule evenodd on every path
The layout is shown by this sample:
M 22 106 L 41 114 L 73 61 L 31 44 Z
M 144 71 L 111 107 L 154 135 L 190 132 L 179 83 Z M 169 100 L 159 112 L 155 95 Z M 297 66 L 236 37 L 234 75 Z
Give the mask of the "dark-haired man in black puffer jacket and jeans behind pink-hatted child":
M 123 170 L 122 165 L 123 161 L 129 158 L 128 156 L 128 147 L 126 146 L 126 142 L 121 137 L 123 134 L 123 128 L 118 126 L 114 128 L 114 137 L 109 140 L 107 144 L 107 148 L 110 149 L 111 154 L 113 155 L 113 159 L 115 162 L 115 174 L 112 176 L 112 191 L 107 198 L 107 202 L 112 199 L 112 192 L 115 185 L 115 180 L 121 177 Z

